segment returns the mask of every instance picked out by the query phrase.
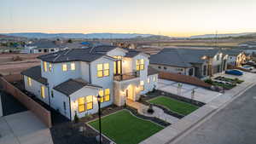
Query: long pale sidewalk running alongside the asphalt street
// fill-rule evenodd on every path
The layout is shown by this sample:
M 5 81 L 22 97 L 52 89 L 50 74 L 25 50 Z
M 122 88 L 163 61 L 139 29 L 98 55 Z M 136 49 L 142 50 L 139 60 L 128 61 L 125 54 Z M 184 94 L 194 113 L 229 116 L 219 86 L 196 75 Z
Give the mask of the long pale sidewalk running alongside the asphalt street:
M 249 75 L 245 78 L 245 81 L 242 84 L 237 85 L 234 89 L 227 90 L 224 95 L 219 95 L 216 99 L 210 101 L 204 107 L 199 108 L 197 111 L 192 112 L 188 116 L 180 119 L 177 123 L 174 123 L 166 129 L 161 130 L 155 135 L 150 136 L 148 139 L 142 141 L 140 144 L 166 144 L 175 140 L 179 135 L 182 135 L 185 131 L 192 128 L 195 124 L 198 124 L 204 118 L 207 118 L 212 112 L 218 110 L 218 108 L 224 106 L 228 102 L 230 102 L 234 97 L 242 94 L 248 88 L 252 87 L 256 84 L 256 75 Z

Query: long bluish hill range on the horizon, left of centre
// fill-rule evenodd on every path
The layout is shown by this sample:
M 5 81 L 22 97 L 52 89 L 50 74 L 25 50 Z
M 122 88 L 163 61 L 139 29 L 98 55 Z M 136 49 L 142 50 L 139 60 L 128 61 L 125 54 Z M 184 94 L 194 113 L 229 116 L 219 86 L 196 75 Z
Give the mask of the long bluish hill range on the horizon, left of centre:
M 40 32 L 24 32 L 24 33 L 5 33 L 7 36 L 28 37 L 28 38 L 134 38 L 134 37 L 150 37 L 152 34 L 138 33 L 40 33 Z

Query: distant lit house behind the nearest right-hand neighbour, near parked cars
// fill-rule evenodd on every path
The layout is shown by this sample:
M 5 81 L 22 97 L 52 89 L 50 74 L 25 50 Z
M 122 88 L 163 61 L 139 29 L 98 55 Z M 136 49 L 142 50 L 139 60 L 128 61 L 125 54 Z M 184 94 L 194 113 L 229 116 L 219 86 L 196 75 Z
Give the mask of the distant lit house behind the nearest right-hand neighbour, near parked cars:
M 226 49 L 222 50 L 225 55 L 228 55 L 228 65 L 241 66 L 247 60 L 247 55 L 242 50 Z

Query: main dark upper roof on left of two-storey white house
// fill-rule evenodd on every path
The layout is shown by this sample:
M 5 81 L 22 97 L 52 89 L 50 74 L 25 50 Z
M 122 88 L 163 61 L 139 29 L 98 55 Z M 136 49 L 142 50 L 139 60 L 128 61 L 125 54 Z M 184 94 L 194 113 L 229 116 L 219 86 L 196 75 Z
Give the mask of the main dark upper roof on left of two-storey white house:
M 86 61 L 91 62 L 102 56 L 107 56 L 106 53 L 115 46 L 98 46 L 86 49 L 66 49 L 48 55 L 40 55 L 38 59 L 48 62 L 67 62 L 67 61 Z

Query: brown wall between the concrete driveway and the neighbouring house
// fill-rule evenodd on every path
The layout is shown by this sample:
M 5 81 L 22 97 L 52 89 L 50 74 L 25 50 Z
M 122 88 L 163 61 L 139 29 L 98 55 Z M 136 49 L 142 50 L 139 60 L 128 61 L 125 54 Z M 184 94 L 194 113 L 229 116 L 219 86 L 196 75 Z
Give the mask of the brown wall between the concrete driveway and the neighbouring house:
M 172 80 L 175 82 L 180 82 L 180 83 L 185 83 L 185 84 L 193 84 L 193 85 L 204 87 L 207 89 L 211 88 L 211 84 L 207 84 L 199 78 L 186 76 L 186 75 L 182 75 L 182 74 L 176 74 L 176 73 L 170 73 L 170 72 L 160 72 L 159 78 L 169 79 L 169 80 Z

